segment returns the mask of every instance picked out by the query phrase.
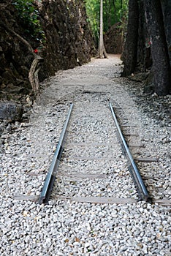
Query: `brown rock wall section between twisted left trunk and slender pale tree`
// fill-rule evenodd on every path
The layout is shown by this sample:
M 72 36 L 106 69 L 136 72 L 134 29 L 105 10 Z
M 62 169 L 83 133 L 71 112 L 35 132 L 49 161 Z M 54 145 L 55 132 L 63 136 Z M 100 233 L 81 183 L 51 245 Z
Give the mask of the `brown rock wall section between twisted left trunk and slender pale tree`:
M 94 42 L 83 1 L 43 1 L 42 28 L 46 44 L 43 56 L 48 74 L 90 61 Z

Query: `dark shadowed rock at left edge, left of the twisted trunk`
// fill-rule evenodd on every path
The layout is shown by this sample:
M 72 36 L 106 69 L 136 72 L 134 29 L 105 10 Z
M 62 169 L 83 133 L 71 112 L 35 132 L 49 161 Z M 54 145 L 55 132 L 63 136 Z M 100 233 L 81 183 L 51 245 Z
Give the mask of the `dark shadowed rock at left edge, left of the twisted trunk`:
M 17 21 L 17 12 L 12 4 L 0 4 L 0 98 L 31 89 L 28 70 L 34 59 L 28 41 L 23 39 L 24 30 Z M 3 93 L 2 93 L 3 91 Z

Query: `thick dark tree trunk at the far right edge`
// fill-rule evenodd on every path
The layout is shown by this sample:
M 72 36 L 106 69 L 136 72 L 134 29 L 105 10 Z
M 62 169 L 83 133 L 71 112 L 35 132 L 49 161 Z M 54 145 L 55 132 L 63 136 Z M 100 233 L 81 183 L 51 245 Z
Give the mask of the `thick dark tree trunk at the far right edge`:
M 154 91 L 167 95 L 170 91 L 171 69 L 164 33 L 160 0 L 144 0 L 145 18 L 151 35 L 151 56 L 153 60 Z

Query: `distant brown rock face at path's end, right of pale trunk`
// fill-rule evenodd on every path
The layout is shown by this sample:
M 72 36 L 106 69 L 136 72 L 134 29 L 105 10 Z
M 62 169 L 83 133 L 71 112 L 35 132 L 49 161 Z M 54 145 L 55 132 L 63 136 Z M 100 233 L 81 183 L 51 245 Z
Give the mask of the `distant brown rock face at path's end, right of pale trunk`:
M 104 34 L 104 47 L 107 53 L 122 53 L 123 30 L 121 29 L 121 23 L 116 23 Z

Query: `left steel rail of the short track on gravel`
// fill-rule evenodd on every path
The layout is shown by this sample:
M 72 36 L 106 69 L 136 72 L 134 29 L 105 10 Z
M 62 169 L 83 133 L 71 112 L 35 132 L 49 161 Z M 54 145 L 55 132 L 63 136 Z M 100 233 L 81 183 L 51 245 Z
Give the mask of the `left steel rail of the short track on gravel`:
M 58 145 L 56 146 L 56 151 L 55 151 L 55 154 L 53 156 L 53 160 L 51 162 L 51 165 L 50 165 L 49 171 L 47 173 L 47 176 L 45 178 L 45 183 L 44 183 L 44 186 L 42 188 L 42 192 L 39 195 L 39 204 L 48 203 L 50 193 L 52 192 L 53 184 L 54 184 L 54 181 L 56 179 L 56 172 L 58 170 L 58 165 L 59 165 L 59 162 L 60 162 L 60 159 L 61 159 L 61 153 L 63 151 L 64 138 L 65 138 L 65 135 L 66 135 L 66 129 L 67 129 L 68 124 L 69 124 L 69 118 L 70 118 L 71 113 L 72 113 L 72 108 L 73 108 L 73 104 L 70 105 L 69 113 L 66 117 L 64 128 L 62 129 L 61 136 L 58 140 Z

